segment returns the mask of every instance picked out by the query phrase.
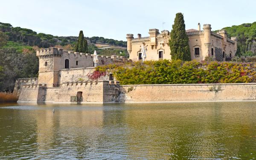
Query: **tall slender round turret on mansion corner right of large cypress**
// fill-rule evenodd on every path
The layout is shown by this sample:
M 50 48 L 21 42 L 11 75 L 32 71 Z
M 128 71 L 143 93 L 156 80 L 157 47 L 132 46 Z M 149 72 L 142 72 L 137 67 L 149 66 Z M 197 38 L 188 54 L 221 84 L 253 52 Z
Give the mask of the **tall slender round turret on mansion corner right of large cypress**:
M 204 45 L 205 45 L 205 51 L 203 51 L 203 60 L 206 56 L 210 56 L 210 46 L 211 46 L 211 25 L 210 24 L 204 24 Z

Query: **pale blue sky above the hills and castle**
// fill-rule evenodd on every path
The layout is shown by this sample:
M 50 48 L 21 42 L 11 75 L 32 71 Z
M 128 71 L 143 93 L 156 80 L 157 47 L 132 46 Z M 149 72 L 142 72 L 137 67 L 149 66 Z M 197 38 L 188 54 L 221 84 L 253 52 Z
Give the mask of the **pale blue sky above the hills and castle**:
M 1 0 L 0 22 L 55 36 L 103 36 L 126 40 L 149 28 L 172 30 L 177 12 L 186 29 L 205 23 L 217 30 L 256 21 L 255 0 Z

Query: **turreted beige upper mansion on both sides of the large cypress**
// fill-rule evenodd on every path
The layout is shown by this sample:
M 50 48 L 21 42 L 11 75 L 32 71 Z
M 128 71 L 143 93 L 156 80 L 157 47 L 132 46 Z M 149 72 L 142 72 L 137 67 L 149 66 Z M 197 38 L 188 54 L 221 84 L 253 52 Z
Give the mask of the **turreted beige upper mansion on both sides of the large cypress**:
M 204 61 L 206 57 L 213 57 L 217 61 L 230 60 L 235 56 L 237 50 L 236 37 L 227 38 L 227 31 L 222 29 L 217 33 L 211 31 L 211 25 L 205 24 L 203 30 L 198 23 L 198 30 L 186 30 L 189 37 L 189 48 L 191 59 L 199 62 Z M 171 51 L 169 48 L 170 33 L 167 30 L 159 33 L 158 29 L 149 29 L 149 36 L 142 37 L 138 34 L 134 38 L 133 34 L 127 34 L 127 51 L 132 61 L 142 59 L 141 48 L 146 49 L 146 60 L 169 59 Z

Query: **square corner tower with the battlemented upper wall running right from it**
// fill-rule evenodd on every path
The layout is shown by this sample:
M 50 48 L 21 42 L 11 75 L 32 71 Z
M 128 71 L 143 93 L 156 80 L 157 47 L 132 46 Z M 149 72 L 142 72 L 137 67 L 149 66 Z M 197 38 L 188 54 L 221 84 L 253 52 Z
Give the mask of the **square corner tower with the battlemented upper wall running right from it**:
M 64 73 L 64 70 L 72 72 L 71 70 L 75 68 L 77 70 L 77 68 L 94 66 L 93 55 L 87 53 L 63 51 L 60 48 L 46 48 L 36 51 L 36 55 L 39 58 L 38 84 L 47 84 L 47 87 L 60 86 L 64 82 L 61 78 L 61 73 Z M 98 59 L 99 63 L 97 65 L 125 63 L 129 61 L 123 56 L 115 55 L 98 56 Z

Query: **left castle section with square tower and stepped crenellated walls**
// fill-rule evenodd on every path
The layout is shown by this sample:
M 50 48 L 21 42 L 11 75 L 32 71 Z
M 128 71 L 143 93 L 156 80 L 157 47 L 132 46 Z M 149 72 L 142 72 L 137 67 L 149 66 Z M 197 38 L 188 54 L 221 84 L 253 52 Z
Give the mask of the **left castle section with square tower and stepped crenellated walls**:
M 93 55 L 46 48 L 36 51 L 38 78 L 17 79 L 14 92 L 18 102 L 98 102 L 116 101 L 119 86 L 111 73 L 96 81 L 88 78 L 95 70 Z M 98 56 L 97 65 L 125 63 L 123 56 Z M 117 93 L 116 93 L 117 92 Z

